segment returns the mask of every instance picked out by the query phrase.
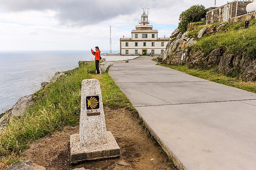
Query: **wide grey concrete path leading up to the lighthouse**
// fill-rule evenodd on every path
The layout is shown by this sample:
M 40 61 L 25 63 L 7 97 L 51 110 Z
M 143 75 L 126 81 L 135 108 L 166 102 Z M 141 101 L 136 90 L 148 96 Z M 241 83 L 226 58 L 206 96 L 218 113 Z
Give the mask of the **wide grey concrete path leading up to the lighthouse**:
M 109 75 L 178 168 L 256 169 L 256 94 L 155 64 L 141 56 Z

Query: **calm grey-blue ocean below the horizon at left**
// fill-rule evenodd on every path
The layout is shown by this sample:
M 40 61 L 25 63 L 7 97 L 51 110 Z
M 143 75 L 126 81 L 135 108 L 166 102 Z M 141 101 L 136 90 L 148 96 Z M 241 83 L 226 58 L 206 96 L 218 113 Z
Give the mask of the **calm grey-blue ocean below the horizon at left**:
M 105 53 L 101 51 L 101 53 Z M 130 59 L 104 56 L 107 61 Z M 0 51 L 0 114 L 23 96 L 41 88 L 55 72 L 78 67 L 78 61 L 93 60 L 91 51 Z

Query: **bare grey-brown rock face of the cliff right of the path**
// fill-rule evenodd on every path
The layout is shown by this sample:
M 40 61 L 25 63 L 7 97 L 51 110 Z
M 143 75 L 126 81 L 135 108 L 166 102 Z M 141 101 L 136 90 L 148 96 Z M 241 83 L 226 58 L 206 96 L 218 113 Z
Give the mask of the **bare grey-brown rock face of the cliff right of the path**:
M 206 25 L 198 31 L 197 36 L 189 34 L 190 31 L 194 31 L 193 27 L 197 26 L 196 24 L 191 24 L 188 29 L 190 31 L 183 34 L 177 28 L 171 34 L 171 40 L 168 42 L 164 53 L 160 56 L 162 64 L 187 64 L 189 68 L 216 68 L 216 72 L 222 72 L 227 76 L 256 81 L 256 57 L 249 57 L 246 52 L 226 53 L 223 47 L 214 49 L 210 54 L 206 54 L 204 50 L 194 50 L 194 44 L 205 34 L 214 35 L 218 34 L 219 31 L 228 31 L 228 28 L 225 28 L 227 24 Z

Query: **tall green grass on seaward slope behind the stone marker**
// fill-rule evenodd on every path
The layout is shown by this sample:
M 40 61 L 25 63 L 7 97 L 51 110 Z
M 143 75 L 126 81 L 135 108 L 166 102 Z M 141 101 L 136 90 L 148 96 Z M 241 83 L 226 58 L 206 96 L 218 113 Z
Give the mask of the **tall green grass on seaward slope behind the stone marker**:
M 38 90 L 23 117 L 13 117 L 7 128 L 0 130 L 0 169 L 19 162 L 20 153 L 29 143 L 38 140 L 65 126 L 79 124 L 81 107 L 81 82 L 95 78 L 100 81 L 104 107 L 126 108 L 131 113 L 137 111 L 125 94 L 107 74 L 95 74 L 95 64 L 80 66 L 65 72 L 62 80 Z

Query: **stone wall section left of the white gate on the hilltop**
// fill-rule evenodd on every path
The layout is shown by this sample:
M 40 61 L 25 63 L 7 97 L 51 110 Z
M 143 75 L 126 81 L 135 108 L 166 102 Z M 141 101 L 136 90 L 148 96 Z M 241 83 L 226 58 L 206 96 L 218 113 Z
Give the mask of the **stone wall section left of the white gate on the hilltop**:
M 224 6 L 226 6 L 226 4 L 208 11 L 206 13 L 206 24 L 213 24 L 223 21 Z

